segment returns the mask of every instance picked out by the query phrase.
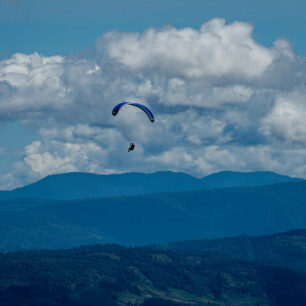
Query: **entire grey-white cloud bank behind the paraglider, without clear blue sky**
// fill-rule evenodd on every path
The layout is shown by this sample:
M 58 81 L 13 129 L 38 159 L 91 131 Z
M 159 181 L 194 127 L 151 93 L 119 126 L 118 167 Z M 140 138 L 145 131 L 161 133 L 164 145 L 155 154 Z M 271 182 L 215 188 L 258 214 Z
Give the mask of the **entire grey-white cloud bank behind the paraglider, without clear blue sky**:
M 109 32 L 94 58 L 15 54 L 0 62 L 0 121 L 39 137 L 0 184 L 68 171 L 306 177 L 305 97 L 305 58 L 285 40 L 260 45 L 243 22 Z M 124 100 L 151 107 L 156 122 L 131 107 L 113 117 Z

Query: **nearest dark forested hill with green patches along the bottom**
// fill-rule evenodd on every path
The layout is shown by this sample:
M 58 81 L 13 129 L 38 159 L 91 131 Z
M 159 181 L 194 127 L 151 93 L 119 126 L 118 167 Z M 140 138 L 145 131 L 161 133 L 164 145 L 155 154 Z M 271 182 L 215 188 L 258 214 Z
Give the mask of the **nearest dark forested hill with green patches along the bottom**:
M 305 305 L 306 274 L 212 252 L 89 246 L 0 254 L 1 305 Z

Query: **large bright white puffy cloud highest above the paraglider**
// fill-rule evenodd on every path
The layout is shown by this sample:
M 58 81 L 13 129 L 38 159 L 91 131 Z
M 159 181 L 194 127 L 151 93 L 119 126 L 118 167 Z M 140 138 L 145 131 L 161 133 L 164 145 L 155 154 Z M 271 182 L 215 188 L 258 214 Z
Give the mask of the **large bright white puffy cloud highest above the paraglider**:
M 251 37 L 249 24 L 213 19 L 201 29 L 163 30 L 150 28 L 139 33 L 110 32 L 104 35 L 106 50 L 133 70 L 152 71 L 187 78 L 234 78 L 249 80 L 260 77 L 272 62 L 268 49 Z

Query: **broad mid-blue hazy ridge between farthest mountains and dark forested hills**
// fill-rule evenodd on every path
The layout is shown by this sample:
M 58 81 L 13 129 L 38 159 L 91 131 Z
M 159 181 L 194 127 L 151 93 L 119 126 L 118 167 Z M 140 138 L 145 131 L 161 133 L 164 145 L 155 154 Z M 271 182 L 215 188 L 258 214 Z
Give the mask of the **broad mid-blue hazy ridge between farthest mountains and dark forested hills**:
M 28 199 L 22 208 L 24 201 L 1 201 L 2 249 L 145 245 L 306 228 L 305 181 L 32 204 Z

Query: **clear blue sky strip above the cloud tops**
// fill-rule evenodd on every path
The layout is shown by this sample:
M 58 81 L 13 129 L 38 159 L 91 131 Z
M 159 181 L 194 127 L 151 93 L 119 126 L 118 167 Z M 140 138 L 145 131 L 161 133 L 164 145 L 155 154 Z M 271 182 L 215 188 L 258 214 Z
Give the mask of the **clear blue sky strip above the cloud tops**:
M 267 46 L 286 38 L 296 52 L 305 55 L 305 14 L 303 0 L 2 0 L 0 54 L 76 53 L 114 29 L 143 31 L 167 23 L 198 28 L 211 18 L 222 17 L 227 22 L 253 23 L 256 40 Z

